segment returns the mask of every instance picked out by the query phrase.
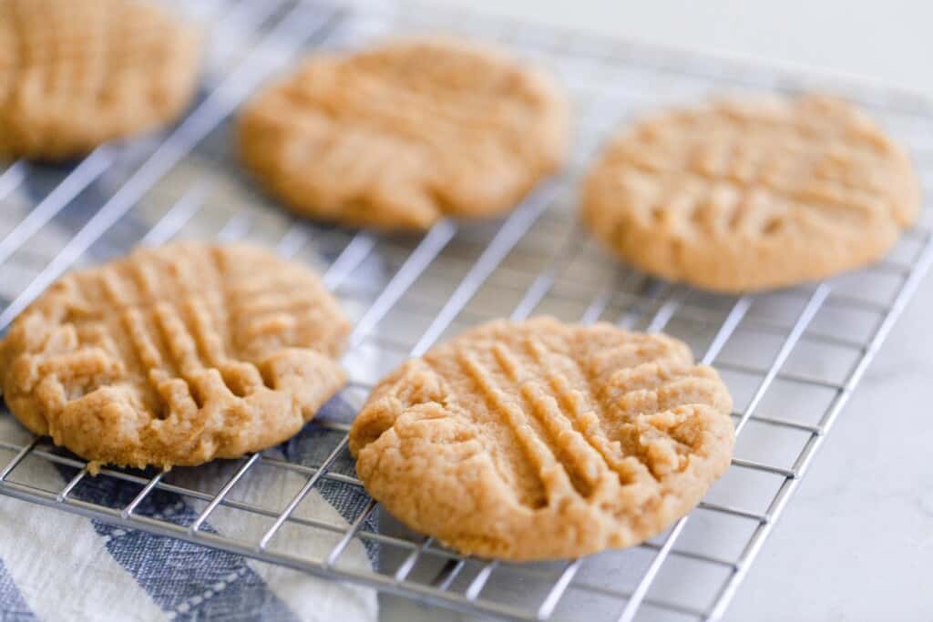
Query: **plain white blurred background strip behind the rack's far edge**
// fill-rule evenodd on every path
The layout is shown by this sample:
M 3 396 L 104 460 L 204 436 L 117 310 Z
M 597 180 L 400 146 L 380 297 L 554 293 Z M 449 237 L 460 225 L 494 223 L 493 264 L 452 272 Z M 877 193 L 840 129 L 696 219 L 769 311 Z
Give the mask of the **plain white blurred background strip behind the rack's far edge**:
M 802 63 L 933 93 L 926 0 L 434 0 L 677 47 Z

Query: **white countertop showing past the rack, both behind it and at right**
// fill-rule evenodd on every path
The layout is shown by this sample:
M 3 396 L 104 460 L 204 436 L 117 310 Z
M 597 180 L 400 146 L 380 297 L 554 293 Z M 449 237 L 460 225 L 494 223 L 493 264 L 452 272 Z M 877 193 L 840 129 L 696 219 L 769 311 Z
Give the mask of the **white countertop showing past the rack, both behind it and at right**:
M 933 3 L 437 1 L 933 93 Z M 933 619 L 931 313 L 927 277 L 816 455 L 728 620 Z M 419 618 L 455 618 L 411 609 Z

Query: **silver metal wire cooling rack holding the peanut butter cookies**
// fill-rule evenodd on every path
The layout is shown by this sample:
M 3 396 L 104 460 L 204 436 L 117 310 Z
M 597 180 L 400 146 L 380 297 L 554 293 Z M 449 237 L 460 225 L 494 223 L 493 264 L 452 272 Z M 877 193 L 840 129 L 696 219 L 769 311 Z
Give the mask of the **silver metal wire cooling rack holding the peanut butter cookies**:
M 271 450 L 222 461 L 212 465 L 222 477 L 210 490 L 187 483 L 183 476 L 190 469 L 107 468 L 89 477 L 84 461 L 53 448 L 48 439 L 29 437 L 4 414 L 0 492 L 467 613 L 536 620 L 721 617 L 925 274 L 933 258 L 928 210 L 868 270 L 759 296 L 713 296 L 626 270 L 595 249 L 574 225 L 578 174 L 607 131 L 640 111 L 724 91 L 819 87 L 870 109 L 912 149 L 929 187 L 933 107 L 910 93 L 852 81 L 426 5 L 177 4 L 192 19 L 212 24 L 204 86 L 188 117 L 159 136 L 106 145 L 72 165 L 18 161 L 0 173 L 0 329 L 65 270 L 125 253 L 138 242 L 250 239 L 317 266 L 355 319 L 344 360 L 351 381 L 341 394 L 349 413 L 326 413 L 307 426 L 315 447 L 326 448 L 320 459 L 291 460 L 287 452 Z M 441 222 L 423 237 L 318 227 L 292 220 L 240 173 L 230 156 L 230 116 L 302 50 L 437 30 L 513 48 L 550 67 L 574 99 L 577 144 L 571 165 L 507 218 Z M 735 396 L 735 459 L 694 512 L 641 546 L 534 564 L 463 558 L 406 531 L 371 500 L 346 523 L 306 518 L 304 505 L 325 503 L 313 490 L 345 487 L 365 494 L 354 477 L 345 433 L 372 382 L 468 325 L 531 313 L 663 329 L 720 369 Z M 33 461 L 55 464 L 67 474 L 62 485 L 47 488 L 19 477 Z M 303 483 L 284 507 L 244 501 L 238 491 L 259 469 L 299 474 Z M 128 487 L 122 503 L 98 503 L 82 493 L 109 480 Z M 146 499 L 160 491 L 200 503 L 200 515 L 179 521 L 147 513 Z M 232 517 L 230 524 L 261 518 L 264 535 L 244 539 L 209 528 L 220 513 Z M 285 530 L 330 538 L 327 554 L 311 558 L 277 546 Z M 371 569 L 346 562 L 354 541 L 366 545 Z

